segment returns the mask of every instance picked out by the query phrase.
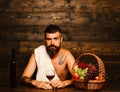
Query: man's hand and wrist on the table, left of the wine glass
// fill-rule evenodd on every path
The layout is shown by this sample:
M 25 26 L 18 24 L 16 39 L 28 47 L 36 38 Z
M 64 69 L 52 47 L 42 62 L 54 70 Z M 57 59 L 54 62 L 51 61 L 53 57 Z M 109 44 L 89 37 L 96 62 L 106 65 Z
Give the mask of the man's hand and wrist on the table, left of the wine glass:
M 32 85 L 42 89 L 53 89 L 53 87 L 49 84 L 49 82 L 32 80 Z

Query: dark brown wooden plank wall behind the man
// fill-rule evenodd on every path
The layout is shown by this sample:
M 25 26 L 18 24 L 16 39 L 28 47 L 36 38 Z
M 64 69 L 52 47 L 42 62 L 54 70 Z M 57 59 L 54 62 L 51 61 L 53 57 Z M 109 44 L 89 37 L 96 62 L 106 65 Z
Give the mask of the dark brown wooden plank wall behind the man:
M 62 46 L 75 58 L 95 53 L 107 77 L 120 76 L 120 0 L 0 0 L 0 81 L 9 81 L 12 48 L 20 78 L 51 23 L 63 29 Z

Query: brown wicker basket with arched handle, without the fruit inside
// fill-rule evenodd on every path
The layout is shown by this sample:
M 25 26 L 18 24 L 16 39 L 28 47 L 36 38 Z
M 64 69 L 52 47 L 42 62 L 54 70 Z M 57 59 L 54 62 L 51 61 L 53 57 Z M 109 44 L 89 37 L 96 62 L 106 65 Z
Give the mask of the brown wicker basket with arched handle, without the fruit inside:
M 96 61 L 97 61 L 97 64 L 98 64 L 98 70 L 99 70 L 99 77 L 100 79 L 99 80 L 89 80 L 88 83 L 86 84 L 83 80 L 76 80 L 76 79 L 73 79 L 74 81 L 74 85 L 78 88 L 81 88 L 81 89 L 88 89 L 88 90 L 99 90 L 103 87 L 104 85 L 104 82 L 105 82 L 105 66 L 104 66 L 104 63 L 102 62 L 102 60 L 95 54 L 93 53 L 83 53 L 81 54 L 77 59 L 76 59 L 76 62 L 78 63 L 78 60 L 83 57 L 83 56 L 86 56 L 86 55 L 90 55 L 90 56 L 93 56 Z M 76 63 L 75 63 L 76 64 Z M 74 64 L 74 65 L 75 65 Z

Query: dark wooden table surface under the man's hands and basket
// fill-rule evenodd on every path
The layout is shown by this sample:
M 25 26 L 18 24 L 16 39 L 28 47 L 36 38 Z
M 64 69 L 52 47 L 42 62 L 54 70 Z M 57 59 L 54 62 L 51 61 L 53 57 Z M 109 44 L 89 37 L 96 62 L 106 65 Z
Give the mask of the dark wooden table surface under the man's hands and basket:
M 104 87 L 99 92 L 120 92 L 120 79 L 114 81 L 108 80 L 105 82 Z M 17 88 L 10 88 L 7 83 L 2 83 L 0 85 L 0 92 L 91 92 L 89 90 L 82 90 L 76 88 L 75 86 L 70 86 L 62 89 L 56 90 L 43 90 L 32 86 L 18 85 Z M 93 91 L 92 91 L 93 92 Z M 98 91 L 97 91 L 98 92 Z

